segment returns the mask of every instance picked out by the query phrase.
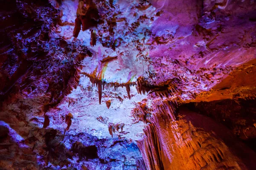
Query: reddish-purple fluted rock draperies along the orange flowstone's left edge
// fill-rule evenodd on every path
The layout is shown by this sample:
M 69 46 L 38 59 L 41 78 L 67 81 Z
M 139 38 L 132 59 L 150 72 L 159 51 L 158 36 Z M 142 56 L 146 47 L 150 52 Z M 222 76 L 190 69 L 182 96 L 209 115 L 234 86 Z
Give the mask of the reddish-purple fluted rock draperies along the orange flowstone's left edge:
M 140 105 L 140 103 L 137 105 Z M 153 103 L 151 110 L 154 114 L 150 118 L 149 124 L 143 129 L 145 134 L 144 139 L 137 141 L 145 161 L 145 169 L 163 170 L 163 148 L 158 131 L 159 120 L 163 120 L 166 127 L 167 123 L 169 124 L 171 121 L 175 121 L 176 109 L 177 101 L 175 99 L 157 100 Z

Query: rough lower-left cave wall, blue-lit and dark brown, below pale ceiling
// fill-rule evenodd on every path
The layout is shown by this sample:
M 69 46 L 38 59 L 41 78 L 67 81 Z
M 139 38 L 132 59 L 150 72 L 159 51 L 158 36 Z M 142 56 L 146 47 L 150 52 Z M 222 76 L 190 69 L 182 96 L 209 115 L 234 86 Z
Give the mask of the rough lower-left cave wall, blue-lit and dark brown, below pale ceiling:
M 27 125 L 17 129 L 9 124 L 0 121 L 1 170 L 131 170 L 144 166 L 137 145 L 127 140 L 98 139 L 88 133 L 64 136 L 53 128 Z

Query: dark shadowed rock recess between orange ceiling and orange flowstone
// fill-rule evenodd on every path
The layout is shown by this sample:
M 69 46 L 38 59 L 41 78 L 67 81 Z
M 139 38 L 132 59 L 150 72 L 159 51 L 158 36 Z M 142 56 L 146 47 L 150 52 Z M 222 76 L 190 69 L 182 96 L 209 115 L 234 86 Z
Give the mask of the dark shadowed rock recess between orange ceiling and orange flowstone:
M 203 114 L 225 125 L 254 151 L 256 140 L 254 99 L 223 99 L 185 104 L 191 111 Z

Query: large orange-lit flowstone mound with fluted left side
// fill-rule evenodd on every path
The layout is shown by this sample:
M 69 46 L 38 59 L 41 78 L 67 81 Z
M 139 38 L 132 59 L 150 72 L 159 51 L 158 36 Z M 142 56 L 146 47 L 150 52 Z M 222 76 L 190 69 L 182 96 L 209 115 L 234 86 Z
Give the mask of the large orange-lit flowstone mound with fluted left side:
M 256 153 L 226 126 L 186 107 L 172 120 L 168 106 L 159 106 L 138 142 L 148 170 L 254 169 Z

